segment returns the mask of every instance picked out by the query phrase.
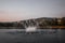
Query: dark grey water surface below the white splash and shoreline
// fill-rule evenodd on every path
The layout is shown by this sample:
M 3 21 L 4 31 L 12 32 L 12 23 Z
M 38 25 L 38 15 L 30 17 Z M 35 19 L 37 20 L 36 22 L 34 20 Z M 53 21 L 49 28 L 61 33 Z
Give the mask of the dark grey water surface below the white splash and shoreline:
M 2 31 L 2 32 L 1 32 Z M 1 29 L 1 43 L 58 43 L 63 40 L 63 30 L 57 29 L 37 29 L 35 32 L 26 32 L 25 29 Z M 4 42 L 3 42 L 3 41 Z

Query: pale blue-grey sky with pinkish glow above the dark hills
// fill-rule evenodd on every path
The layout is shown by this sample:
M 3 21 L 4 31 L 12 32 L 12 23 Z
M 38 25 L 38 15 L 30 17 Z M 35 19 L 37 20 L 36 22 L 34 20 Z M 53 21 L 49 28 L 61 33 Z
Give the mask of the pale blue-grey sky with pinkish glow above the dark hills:
M 0 0 L 0 22 L 65 17 L 65 0 Z

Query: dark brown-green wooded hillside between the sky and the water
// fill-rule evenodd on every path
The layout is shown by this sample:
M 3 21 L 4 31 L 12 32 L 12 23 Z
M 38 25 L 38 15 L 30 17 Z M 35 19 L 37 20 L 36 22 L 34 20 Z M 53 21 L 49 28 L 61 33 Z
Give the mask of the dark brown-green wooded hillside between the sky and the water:
M 48 28 L 51 26 L 65 26 L 65 17 L 63 18 L 37 18 L 34 22 L 32 19 L 21 20 L 20 23 L 0 23 L 0 29 L 25 29 L 25 26 L 36 26 L 38 28 Z M 60 22 L 58 22 L 60 20 Z M 38 26 L 37 26 L 38 23 Z

